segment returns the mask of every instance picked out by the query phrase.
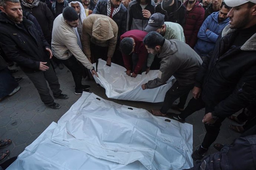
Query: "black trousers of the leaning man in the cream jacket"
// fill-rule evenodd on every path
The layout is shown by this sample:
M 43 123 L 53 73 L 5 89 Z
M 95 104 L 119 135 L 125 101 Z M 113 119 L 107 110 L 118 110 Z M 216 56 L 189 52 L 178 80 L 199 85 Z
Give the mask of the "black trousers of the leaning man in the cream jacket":
M 79 65 L 75 56 L 71 56 L 68 59 L 63 59 L 62 63 L 71 71 L 73 79 L 75 81 L 75 89 L 82 89 L 82 76 L 83 72 L 81 65 Z

